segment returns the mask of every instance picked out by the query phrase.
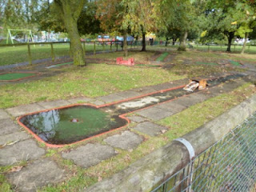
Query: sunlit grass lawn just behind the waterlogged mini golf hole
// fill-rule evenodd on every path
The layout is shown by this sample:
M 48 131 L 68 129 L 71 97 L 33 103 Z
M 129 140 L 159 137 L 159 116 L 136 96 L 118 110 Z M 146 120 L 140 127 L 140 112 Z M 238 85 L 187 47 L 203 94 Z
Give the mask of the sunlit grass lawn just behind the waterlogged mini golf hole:
M 70 66 L 62 74 L 51 78 L 1 86 L 0 108 L 78 96 L 93 98 L 181 78 L 186 78 L 186 75 L 153 68 L 106 64 L 91 64 L 82 68 Z

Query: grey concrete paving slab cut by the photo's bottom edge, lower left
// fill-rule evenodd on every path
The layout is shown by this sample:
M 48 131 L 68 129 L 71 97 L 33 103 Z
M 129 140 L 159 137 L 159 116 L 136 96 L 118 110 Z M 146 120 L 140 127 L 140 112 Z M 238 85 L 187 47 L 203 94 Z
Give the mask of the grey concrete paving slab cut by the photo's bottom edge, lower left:
M 7 174 L 6 178 L 17 191 L 34 192 L 39 187 L 47 186 L 66 179 L 66 171 L 59 168 L 50 159 L 39 159 L 29 163 L 18 172 Z

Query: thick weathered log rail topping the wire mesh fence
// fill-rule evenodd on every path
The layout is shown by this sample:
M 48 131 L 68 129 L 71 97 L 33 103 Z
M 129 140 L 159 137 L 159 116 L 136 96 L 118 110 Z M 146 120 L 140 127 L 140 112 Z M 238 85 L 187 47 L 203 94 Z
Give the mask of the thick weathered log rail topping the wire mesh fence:
M 218 142 L 235 126 L 242 123 L 256 111 L 256 95 L 240 103 L 231 110 L 185 134 L 182 138 L 189 141 L 196 154 L 201 154 L 208 147 Z M 125 170 L 114 174 L 90 186 L 86 191 L 150 191 L 161 184 L 176 171 L 189 162 L 189 154 L 180 142 L 170 142 L 128 166 Z

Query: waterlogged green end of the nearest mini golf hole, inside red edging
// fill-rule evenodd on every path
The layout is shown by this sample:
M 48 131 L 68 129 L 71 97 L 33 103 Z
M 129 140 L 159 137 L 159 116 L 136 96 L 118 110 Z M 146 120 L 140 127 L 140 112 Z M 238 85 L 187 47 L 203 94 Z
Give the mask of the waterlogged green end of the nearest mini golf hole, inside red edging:
M 26 128 L 50 144 L 70 144 L 121 126 L 127 121 L 92 106 L 71 106 L 20 119 Z

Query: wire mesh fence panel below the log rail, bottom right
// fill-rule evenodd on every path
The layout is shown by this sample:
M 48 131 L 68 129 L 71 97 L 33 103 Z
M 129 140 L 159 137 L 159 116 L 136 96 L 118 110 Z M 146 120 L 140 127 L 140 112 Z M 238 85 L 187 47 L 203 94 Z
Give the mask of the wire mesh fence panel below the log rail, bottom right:
M 256 114 L 152 192 L 256 191 Z

